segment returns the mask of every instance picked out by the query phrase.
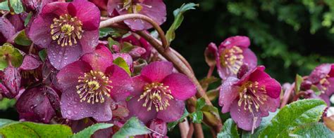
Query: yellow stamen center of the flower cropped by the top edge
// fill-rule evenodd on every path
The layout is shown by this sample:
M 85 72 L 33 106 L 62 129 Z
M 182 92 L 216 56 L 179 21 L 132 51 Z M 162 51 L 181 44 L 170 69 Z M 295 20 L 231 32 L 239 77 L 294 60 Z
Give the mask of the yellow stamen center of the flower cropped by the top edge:
M 144 6 L 147 8 L 152 7 L 142 4 L 142 2 L 144 2 L 144 0 L 123 0 L 123 3 L 120 3 L 120 5 L 123 5 L 123 8 L 121 8 L 120 11 L 126 10 L 128 13 L 139 13 Z

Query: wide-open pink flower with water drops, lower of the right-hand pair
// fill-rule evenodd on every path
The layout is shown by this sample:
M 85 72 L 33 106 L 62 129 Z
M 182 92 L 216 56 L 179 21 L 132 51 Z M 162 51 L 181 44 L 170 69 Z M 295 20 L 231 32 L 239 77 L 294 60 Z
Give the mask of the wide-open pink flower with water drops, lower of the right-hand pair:
M 221 112 L 230 111 L 232 119 L 243 130 L 254 130 L 261 118 L 268 116 L 268 111 L 276 111 L 280 104 L 280 91 L 280 83 L 266 74 L 263 66 L 256 67 L 223 82 L 219 95 L 219 105 L 223 107 Z

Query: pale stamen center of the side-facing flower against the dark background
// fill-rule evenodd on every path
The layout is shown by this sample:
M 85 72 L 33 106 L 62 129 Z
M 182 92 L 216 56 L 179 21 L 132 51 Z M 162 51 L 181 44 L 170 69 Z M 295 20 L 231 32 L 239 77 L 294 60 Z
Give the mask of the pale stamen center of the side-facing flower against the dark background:
M 237 74 L 243 64 L 243 60 L 242 49 L 237 46 L 226 48 L 221 54 L 221 65 L 228 68 L 228 74 Z

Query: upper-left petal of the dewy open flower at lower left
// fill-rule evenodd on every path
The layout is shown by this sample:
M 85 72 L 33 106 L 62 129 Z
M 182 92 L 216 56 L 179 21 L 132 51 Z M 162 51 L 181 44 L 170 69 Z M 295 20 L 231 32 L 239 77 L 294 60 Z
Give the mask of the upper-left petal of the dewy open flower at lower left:
M 77 61 L 68 64 L 56 76 L 59 83 L 58 86 L 63 90 L 73 87 L 77 85 L 79 76 L 83 76 L 85 72 L 90 70 L 92 70 L 92 67 L 87 62 Z

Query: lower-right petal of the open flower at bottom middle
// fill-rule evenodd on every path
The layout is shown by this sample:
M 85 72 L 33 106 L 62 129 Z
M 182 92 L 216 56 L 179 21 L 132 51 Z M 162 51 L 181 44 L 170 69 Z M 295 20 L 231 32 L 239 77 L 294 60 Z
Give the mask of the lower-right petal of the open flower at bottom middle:
M 185 102 L 171 99 L 169 100 L 169 104 L 170 106 L 163 111 L 159 111 L 157 116 L 157 118 L 167 123 L 178 120 L 185 112 Z

